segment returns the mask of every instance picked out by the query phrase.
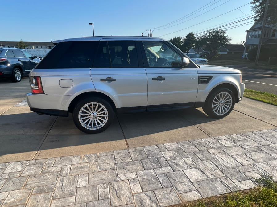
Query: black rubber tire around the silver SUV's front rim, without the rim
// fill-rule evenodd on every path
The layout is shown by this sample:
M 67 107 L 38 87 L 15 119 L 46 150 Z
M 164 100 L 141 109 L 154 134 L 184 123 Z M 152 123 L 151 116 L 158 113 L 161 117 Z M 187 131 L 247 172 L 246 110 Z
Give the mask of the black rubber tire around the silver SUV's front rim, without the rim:
M 219 94 L 221 92 L 228 92 L 231 95 L 231 97 L 232 97 L 232 106 L 231 106 L 230 110 L 226 114 L 217 115 L 213 111 L 212 104 L 213 104 L 213 99 L 217 96 L 217 94 Z M 234 106 L 235 106 L 235 96 L 234 96 L 234 93 L 230 89 L 228 89 L 228 88 L 220 88 L 220 89 L 215 90 L 214 92 L 212 92 L 209 95 L 208 100 L 206 101 L 205 106 L 203 107 L 203 110 L 209 116 L 211 116 L 213 118 L 216 118 L 216 119 L 220 119 L 220 118 L 223 118 L 223 117 L 229 115 L 233 111 Z

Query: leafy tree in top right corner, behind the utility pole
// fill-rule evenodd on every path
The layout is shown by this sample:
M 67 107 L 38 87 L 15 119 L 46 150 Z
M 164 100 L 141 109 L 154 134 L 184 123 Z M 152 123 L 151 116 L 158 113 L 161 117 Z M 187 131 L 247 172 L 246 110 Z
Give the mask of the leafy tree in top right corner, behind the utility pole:
M 266 0 L 252 0 L 252 11 L 256 14 L 255 22 L 261 22 L 265 12 Z M 270 0 L 267 11 L 267 24 L 277 24 L 277 0 Z

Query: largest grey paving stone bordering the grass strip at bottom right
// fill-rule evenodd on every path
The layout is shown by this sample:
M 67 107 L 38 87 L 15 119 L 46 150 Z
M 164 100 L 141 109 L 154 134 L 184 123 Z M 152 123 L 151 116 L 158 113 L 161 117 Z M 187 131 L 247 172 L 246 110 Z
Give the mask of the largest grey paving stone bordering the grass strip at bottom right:
M 198 181 L 193 184 L 203 198 L 230 192 L 219 178 Z

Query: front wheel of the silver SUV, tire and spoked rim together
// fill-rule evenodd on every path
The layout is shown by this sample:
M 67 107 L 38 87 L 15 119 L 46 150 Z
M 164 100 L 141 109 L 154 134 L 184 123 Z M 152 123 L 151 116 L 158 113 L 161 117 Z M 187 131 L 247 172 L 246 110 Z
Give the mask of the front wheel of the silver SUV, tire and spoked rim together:
M 229 115 L 233 110 L 234 105 L 234 93 L 228 88 L 218 88 L 209 94 L 205 105 L 202 108 L 210 117 L 220 119 Z

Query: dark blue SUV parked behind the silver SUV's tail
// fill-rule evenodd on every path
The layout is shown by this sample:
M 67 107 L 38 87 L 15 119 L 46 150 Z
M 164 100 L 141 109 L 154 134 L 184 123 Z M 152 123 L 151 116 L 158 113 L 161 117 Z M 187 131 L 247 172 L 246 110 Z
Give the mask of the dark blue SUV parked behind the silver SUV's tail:
M 0 47 L 0 78 L 10 78 L 19 82 L 28 76 L 40 59 L 24 49 Z

